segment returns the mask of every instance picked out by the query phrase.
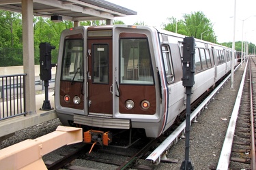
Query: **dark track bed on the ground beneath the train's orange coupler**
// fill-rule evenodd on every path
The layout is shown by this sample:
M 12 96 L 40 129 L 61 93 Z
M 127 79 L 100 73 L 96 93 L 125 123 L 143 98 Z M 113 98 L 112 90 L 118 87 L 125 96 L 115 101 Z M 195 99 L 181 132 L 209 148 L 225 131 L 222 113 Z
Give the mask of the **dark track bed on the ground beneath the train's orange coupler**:
M 145 156 L 145 154 L 150 150 L 152 146 L 154 146 L 158 142 L 159 138 L 151 140 L 145 143 L 144 147 L 141 148 L 132 148 L 132 152 L 127 152 L 126 149 L 122 148 L 113 148 L 111 147 L 95 147 L 94 152 L 88 154 L 91 145 L 85 143 L 74 144 L 74 146 L 67 147 L 68 152 L 58 153 L 62 158 L 51 161 L 46 160 L 45 164 L 47 169 L 88 169 L 87 167 L 79 167 L 72 165 L 72 161 L 75 159 L 82 159 L 87 161 L 93 161 L 95 163 L 109 164 L 114 165 L 115 169 L 143 169 L 143 170 L 151 170 L 154 169 L 152 166 L 147 165 L 139 165 L 137 161 Z M 108 156 L 109 155 L 109 156 Z M 110 156 L 111 155 L 111 156 Z M 115 156 L 114 156 L 115 155 Z M 111 157 L 111 158 L 107 158 Z M 117 157 L 119 157 L 117 159 Z M 107 158 L 107 159 L 106 159 Z M 98 167 L 95 167 L 98 169 Z

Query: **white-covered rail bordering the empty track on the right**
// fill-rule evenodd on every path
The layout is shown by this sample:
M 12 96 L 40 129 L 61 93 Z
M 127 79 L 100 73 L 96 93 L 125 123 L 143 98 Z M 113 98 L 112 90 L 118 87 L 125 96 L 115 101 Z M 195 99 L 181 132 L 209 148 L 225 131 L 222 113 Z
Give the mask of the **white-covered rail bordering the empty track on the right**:
M 239 110 L 240 103 L 241 103 L 242 90 L 244 88 L 244 80 L 245 80 L 247 65 L 248 65 L 248 61 L 246 63 L 246 66 L 244 67 L 245 69 L 244 69 L 244 73 L 242 76 L 240 88 L 238 90 L 238 95 L 236 97 L 236 103 L 233 107 L 233 112 L 231 114 L 229 126 L 227 128 L 227 133 L 225 136 L 225 140 L 223 142 L 223 148 L 221 150 L 221 155 L 218 160 L 217 170 L 226 170 L 229 168 L 229 160 L 230 160 L 230 154 L 231 154 L 231 147 L 232 147 L 232 143 L 233 143 L 233 135 L 234 135 L 235 129 L 236 129 L 236 120 L 238 118 L 238 110 Z

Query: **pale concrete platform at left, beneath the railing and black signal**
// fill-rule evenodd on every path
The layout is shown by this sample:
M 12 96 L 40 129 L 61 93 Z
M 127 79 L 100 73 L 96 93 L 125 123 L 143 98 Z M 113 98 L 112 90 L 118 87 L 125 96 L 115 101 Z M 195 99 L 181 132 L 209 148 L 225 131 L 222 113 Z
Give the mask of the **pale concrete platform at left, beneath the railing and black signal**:
M 54 92 L 48 92 L 48 100 L 50 101 L 51 110 L 42 110 L 42 105 L 45 100 L 45 94 L 36 95 L 36 114 L 27 114 L 26 116 L 16 116 L 0 121 L 0 142 L 11 137 L 15 132 L 26 129 L 30 126 L 35 126 L 49 120 L 57 118 L 54 105 Z

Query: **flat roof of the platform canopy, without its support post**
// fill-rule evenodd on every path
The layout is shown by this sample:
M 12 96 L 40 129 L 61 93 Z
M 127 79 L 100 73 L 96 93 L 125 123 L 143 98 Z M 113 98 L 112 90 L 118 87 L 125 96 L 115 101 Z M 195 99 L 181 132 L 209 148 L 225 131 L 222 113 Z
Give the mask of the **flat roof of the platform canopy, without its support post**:
M 0 10 L 21 13 L 21 0 L 1 0 Z M 34 16 L 61 16 L 63 20 L 113 20 L 137 12 L 104 0 L 33 0 Z

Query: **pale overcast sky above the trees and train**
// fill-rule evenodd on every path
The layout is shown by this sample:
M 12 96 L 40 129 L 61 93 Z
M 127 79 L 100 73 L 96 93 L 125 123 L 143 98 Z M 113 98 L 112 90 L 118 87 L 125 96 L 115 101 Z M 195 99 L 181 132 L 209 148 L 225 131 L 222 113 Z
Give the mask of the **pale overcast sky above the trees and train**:
M 218 43 L 233 41 L 235 1 L 235 41 L 256 44 L 256 1 L 255 0 L 106 0 L 137 12 L 135 16 L 115 18 L 125 24 L 145 22 L 148 26 L 161 27 L 167 18 L 183 19 L 184 14 L 203 12 L 213 24 Z M 244 20 L 244 21 L 242 21 Z M 244 36 L 242 38 L 242 23 Z M 225 45 L 225 44 L 223 44 Z

